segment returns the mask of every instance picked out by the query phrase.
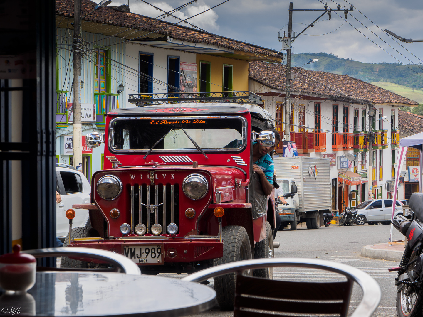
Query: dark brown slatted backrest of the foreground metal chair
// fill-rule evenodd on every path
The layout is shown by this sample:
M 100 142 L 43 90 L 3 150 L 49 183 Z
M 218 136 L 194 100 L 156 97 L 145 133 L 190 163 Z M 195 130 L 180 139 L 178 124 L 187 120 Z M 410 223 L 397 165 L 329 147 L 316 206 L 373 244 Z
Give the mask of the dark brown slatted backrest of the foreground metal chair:
M 269 312 L 294 314 L 348 313 L 353 281 L 294 282 L 236 275 L 233 316 L 265 316 Z

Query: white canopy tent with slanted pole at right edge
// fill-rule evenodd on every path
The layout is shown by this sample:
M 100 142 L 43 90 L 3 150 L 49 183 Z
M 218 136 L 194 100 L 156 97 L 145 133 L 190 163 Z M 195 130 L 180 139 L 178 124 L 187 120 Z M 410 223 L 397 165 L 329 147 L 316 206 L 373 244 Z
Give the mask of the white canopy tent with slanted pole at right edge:
M 420 150 L 420 175 L 419 175 L 419 191 L 423 192 L 422 184 L 423 179 L 421 172 L 423 170 L 423 132 L 420 132 L 418 134 L 410 135 L 409 137 L 402 138 L 399 140 L 399 153 L 398 153 L 398 159 L 397 159 L 397 167 L 396 167 L 396 173 L 395 173 L 395 187 L 394 187 L 394 194 L 393 199 L 394 201 L 397 199 L 397 190 L 398 190 L 398 183 L 399 183 L 399 176 L 402 168 L 402 164 L 404 163 L 404 159 L 407 156 L 407 149 L 408 148 L 416 148 Z M 392 204 L 392 216 L 391 219 L 394 216 L 395 211 L 395 204 Z M 391 224 L 391 234 L 389 236 L 389 242 L 392 240 L 392 230 L 393 225 Z

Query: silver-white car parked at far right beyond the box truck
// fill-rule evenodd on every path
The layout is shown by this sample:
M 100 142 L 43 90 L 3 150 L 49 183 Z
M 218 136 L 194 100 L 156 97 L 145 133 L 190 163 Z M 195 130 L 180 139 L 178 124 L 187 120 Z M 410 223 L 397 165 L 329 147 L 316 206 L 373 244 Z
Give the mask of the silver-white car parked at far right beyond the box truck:
M 359 226 L 363 226 L 366 222 L 368 224 L 390 224 L 392 219 L 392 202 L 393 199 L 372 199 L 362 202 L 357 205 L 357 218 L 355 223 Z M 399 200 L 395 204 L 394 217 L 398 214 L 402 214 L 402 202 Z

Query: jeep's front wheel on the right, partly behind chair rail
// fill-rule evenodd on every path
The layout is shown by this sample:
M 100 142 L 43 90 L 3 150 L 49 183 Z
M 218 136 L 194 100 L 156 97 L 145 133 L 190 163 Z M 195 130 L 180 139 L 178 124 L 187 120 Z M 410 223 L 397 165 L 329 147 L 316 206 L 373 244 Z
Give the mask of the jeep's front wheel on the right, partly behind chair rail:
M 223 257 L 214 259 L 214 266 L 241 260 L 251 260 L 250 238 L 248 238 L 247 231 L 244 227 L 227 226 L 222 228 L 222 239 Z M 252 276 L 253 270 L 248 270 L 244 274 Z M 219 303 L 222 309 L 233 309 L 235 276 L 236 273 L 234 272 L 213 278 L 217 303 Z

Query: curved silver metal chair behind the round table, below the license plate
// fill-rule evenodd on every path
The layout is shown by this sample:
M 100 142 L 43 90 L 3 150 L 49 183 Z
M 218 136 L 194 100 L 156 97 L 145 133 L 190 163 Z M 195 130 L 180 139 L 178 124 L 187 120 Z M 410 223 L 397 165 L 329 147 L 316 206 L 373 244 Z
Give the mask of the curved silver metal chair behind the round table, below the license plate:
M 113 253 L 106 250 L 89 249 L 89 248 L 47 248 L 25 250 L 22 253 L 32 254 L 34 257 L 83 257 L 85 261 L 93 259 L 102 260 L 113 264 L 122 273 L 141 275 L 141 270 L 134 262 L 129 260 L 122 254 Z M 48 268 L 55 271 L 93 271 L 93 269 L 72 269 L 72 268 Z M 37 269 L 38 270 L 38 269 Z M 101 271 L 101 270 L 99 270 Z

